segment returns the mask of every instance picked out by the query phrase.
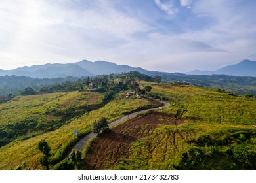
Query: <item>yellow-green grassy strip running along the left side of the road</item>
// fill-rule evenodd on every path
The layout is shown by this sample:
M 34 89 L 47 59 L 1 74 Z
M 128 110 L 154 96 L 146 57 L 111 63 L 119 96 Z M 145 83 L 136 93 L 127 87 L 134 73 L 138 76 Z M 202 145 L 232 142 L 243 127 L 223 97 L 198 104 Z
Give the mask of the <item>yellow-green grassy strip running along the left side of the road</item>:
M 39 163 L 42 154 L 37 149 L 37 144 L 41 139 L 45 139 L 51 147 L 51 161 L 58 163 L 66 152 L 72 147 L 75 141 L 73 130 L 78 129 L 79 137 L 91 131 L 91 125 L 95 120 L 106 117 L 110 122 L 121 118 L 129 112 L 139 108 L 152 107 L 147 99 L 116 99 L 104 107 L 87 112 L 62 127 L 47 133 L 32 137 L 23 141 L 15 141 L 0 148 L 0 169 L 14 169 L 14 167 L 26 162 L 26 169 L 44 169 Z

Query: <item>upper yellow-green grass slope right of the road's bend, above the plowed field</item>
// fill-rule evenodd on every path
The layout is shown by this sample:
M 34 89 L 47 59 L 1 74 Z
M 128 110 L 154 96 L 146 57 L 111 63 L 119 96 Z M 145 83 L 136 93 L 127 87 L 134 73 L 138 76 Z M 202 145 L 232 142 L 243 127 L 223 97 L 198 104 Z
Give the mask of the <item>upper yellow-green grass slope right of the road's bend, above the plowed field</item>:
M 173 99 L 170 114 L 184 111 L 181 118 L 229 124 L 254 125 L 256 99 L 230 96 L 217 90 L 177 84 L 152 86 L 152 93 Z M 168 112 L 168 111 L 167 111 Z

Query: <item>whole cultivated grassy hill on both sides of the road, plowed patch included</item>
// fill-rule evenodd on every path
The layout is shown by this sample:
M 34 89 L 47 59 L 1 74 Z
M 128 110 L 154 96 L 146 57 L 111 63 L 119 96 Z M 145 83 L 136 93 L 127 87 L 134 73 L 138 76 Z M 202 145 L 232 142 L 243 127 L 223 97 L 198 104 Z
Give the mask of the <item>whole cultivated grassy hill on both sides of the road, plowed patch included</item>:
M 255 97 L 181 83 L 139 83 L 141 89 L 152 87 L 147 95 L 171 106 L 98 135 L 83 150 L 80 169 L 255 169 Z M 98 92 L 56 92 L 1 104 L 0 169 L 45 169 L 37 148 L 43 139 L 53 168 L 95 120 L 112 122 L 157 106 L 148 99 L 125 99 L 123 93 L 107 103 Z

